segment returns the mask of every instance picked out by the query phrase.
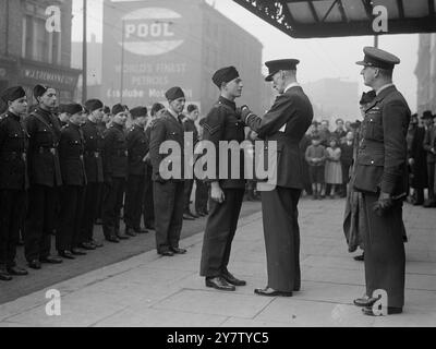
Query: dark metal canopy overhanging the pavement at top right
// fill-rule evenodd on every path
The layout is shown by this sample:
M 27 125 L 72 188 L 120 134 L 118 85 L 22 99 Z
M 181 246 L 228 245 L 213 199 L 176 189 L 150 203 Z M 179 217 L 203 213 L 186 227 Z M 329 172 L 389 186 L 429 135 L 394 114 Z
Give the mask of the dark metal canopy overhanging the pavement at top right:
M 233 0 L 294 38 L 436 32 L 436 0 Z M 373 22 L 387 9 L 388 32 Z

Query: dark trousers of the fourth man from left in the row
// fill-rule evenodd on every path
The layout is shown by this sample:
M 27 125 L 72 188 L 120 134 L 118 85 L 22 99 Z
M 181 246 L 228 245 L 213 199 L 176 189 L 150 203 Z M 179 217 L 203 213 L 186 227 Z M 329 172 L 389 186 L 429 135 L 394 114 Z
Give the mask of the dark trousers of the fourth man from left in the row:
M 89 182 L 86 184 L 80 242 L 89 242 L 93 240 L 94 224 L 99 216 L 98 205 L 101 196 L 102 183 Z

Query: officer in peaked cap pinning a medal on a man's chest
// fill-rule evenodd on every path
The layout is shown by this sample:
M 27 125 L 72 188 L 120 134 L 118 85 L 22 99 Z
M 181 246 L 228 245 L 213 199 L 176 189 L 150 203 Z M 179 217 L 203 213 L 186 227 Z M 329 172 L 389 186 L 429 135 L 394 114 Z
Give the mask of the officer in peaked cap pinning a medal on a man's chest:
M 243 108 L 242 118 L 262 140 L 277 142 L 277 184 L 262 191 L 268 284 L 259 296 L 291 297 L 301 287 L 298 204 L 304 189 L 300 142 L 312 124 L 311 101 L 296 82 L 296 59 L 266 62 L 266 81 L 280 94 L 263 117 Z

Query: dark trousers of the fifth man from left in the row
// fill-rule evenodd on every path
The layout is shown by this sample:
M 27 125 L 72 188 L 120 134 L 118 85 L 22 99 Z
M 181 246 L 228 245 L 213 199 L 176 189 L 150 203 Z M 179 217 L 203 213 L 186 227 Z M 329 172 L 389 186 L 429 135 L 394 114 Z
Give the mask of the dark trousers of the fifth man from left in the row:
M 120 233 L 120 216 L 123 205 L 125 179 L 112 178 L 110 183 L 105 183 L 102 200 L 102 231 L 105 238 Z

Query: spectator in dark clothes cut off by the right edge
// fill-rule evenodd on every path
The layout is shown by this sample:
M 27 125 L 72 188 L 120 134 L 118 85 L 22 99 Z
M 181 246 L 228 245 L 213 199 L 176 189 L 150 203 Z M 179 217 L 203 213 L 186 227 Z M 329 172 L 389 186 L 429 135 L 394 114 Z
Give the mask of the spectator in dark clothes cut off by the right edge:
M 435 198 L 435 164 L 436 164 L 436 151 L 435 151 L 435 140 L 436 140 L 436 127 L 434 124 L 434 116 L 432 111 L 425 110 L 422 117 L 425 127 L 425 135 L 423 147 L 427 153 L 427 188 L 428 197 L 424 203 L 424 207 L 436 207 Z

